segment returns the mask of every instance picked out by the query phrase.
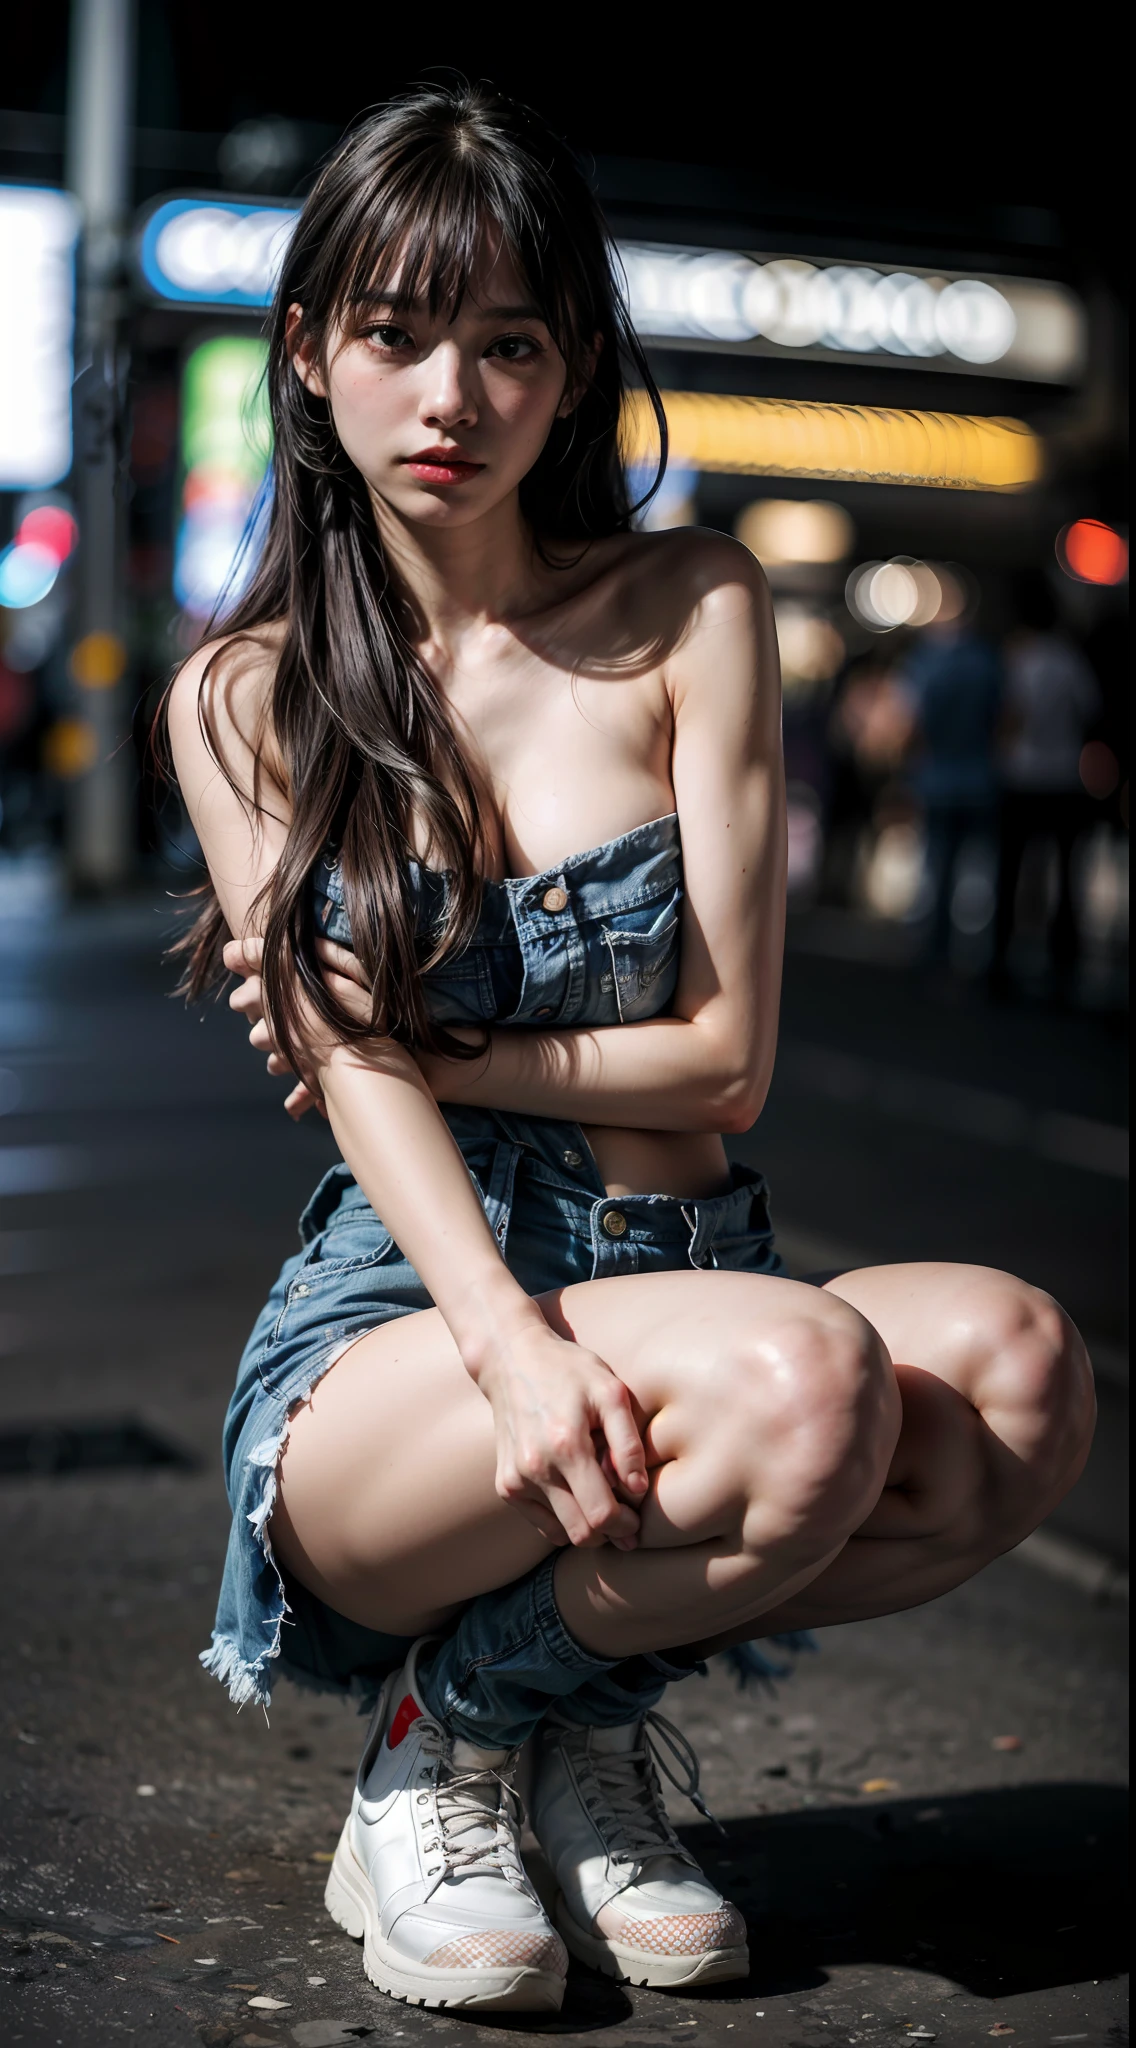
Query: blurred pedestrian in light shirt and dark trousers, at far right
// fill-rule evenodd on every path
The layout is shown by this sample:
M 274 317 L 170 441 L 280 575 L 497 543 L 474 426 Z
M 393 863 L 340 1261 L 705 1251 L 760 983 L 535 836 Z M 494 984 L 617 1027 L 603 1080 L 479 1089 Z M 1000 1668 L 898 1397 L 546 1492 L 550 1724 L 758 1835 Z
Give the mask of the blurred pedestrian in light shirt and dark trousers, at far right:
M 1081 932 L 1073 895 L 1073 850 L 1091 823 L 1093 805 L 1081 782 L 1085 735 L 1101 715 L 1101 690 L 1081 649 L 1058 631 L 1056 606 L 1042 575 L 1017 590 L 1019 625 L 1005 643 L 1005 711 L 999 801 L 999 895 L 991 989 L 1009 987 L 1017 885 L 1025 848 L 1056 844 L 1056 905 L 1048 918 L 1054 993 L 1060 999 L 1077 971 Z

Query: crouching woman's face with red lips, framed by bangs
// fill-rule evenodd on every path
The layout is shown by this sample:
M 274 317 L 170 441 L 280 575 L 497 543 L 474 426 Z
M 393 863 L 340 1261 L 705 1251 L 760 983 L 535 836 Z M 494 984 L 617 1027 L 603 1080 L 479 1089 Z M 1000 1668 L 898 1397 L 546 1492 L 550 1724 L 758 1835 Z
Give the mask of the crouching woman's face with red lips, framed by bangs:
M 565 360 L 512 256 L 489 244 L 454 319 L 377 299 L 358 334 L 332 334 L 325 375 L 299 340 L 299 307 L 289 322 L 293 367 L 330 401 L 370 492 L 422 526 L 467 526 L 501 504 L 571 410 Z

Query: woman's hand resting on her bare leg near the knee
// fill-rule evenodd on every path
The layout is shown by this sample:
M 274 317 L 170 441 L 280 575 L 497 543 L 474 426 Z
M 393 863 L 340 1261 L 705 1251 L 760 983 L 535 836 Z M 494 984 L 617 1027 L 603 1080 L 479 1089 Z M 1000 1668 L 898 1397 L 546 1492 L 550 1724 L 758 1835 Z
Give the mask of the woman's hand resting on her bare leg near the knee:
M 499 1499 L 549 1542 L 635 1550 L 647 1454 L 610 1366 L 540 1319 L 497 1339 L 475 1378 L 497 1425 Z

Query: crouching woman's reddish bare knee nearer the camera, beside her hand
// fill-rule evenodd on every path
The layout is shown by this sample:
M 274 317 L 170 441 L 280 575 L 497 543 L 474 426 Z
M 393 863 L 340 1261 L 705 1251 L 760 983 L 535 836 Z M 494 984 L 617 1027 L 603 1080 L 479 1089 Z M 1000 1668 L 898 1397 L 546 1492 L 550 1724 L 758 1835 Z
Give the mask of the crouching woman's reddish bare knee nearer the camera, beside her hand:
M 833 1296 L 786 1303 L 784 1317 L 723 1346 L 710 1376 L 704 1413 L 739 1491 L 841 1542 L 878 1499 L 901 1425 L 872 1325 Z

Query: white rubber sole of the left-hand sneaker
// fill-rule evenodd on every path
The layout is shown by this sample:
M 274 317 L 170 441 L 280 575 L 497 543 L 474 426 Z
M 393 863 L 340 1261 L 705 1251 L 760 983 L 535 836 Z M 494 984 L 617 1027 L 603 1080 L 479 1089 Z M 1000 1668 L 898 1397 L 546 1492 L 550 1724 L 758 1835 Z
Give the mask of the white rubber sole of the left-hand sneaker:
M 391 1950 L 379 1931 L 375 1888 L 354 1853 L 350 1815 L 327 1872 L 323 1905 L 352 1942 L 362 1942 L 362 1968 L 377 1991 L 403 2005 L 479 2007 L 489 2013 L 559 2013 L 565 1980 L 553 1970 L 432 1970 Z

